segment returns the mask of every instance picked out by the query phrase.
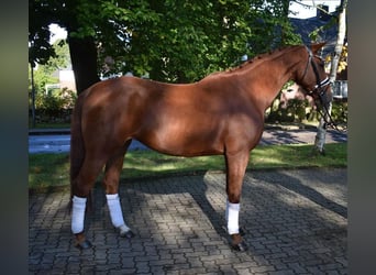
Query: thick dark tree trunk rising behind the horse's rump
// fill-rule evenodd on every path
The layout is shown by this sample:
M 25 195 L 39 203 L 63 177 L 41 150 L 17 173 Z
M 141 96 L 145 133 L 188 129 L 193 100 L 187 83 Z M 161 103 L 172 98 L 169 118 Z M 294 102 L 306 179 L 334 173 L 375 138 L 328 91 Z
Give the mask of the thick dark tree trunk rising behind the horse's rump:
M 71 67 L 75 73 L 76 89 L 79 95 L 100 81 L 97 73 L 97 47 L 90 36 L 78 38 L 68 34 Z

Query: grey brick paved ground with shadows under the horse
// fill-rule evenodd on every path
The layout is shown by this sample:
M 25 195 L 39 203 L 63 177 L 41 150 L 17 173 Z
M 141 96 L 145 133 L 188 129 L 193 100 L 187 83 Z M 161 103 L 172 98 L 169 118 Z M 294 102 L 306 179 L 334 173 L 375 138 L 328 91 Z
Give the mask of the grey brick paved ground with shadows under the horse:
M 346 169 L 247 173 L 241 223 L 250 246 L 232 252 L 223 230 L 224 174 L 123 183 L 136 237 L 118 237 L 102 188 L 87 235 L 73 245 L 69 193 L 30 196 L 30 274 L 347 274 Z

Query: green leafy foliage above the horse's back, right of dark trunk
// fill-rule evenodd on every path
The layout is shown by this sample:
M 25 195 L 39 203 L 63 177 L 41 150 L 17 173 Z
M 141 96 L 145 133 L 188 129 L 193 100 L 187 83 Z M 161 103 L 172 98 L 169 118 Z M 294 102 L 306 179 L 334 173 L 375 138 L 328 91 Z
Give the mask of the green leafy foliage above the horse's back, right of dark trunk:
M 122 19 L 117 22 L 119 29 L 125 30 L 121 43 L 126 47 L 123 52 L 119 51 L 121 46 L 115 47 L 113 53 L 113 47 L 103 44 L 102 59 L 113 58 L 106 73 L 133 72 L 139 76 L 150 73 L 156 80 L 189 82 L 236 66 L 244 54 L 253 56 L 297 42 L 288 28 L 286 3 L 150 1 L 143 6 L 153 14 L 150 20 L 133 24 Z

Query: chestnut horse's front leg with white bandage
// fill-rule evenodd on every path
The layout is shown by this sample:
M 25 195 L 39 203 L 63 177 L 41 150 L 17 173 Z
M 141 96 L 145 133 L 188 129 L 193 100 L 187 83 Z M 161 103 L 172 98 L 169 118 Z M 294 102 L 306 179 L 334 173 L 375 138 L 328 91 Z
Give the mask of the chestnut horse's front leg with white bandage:
M 235 251 L 246 251 L 247 245 L 243 241 L 239 227 L 240 200 L 243 178 L 250 160 L 250 152 L 226 153 L 226 208 L 225 219 L 228 232 L 231 237 L 231 248 Z

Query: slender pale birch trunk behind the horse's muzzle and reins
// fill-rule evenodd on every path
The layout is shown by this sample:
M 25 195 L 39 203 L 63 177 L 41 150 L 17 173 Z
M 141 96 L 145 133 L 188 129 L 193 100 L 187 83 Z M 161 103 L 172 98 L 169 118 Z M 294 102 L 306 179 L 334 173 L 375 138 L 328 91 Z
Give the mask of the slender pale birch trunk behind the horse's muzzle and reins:
M 342 0 L 341 12 L 339 14 L 339 32 L 336 36 L 334 54 L 331 61 L 331 68 L 330 68 L 330 76 L 329 76 L 329 80 L 331 84 L 334 82 L 336 78 L 336 72 L 339 67 L 340 57 L 342 54 L 343 42 L 345 38 L 345 34 L 346 34 L 346 7 L 347 7 L 347 0 Z M 330 102 L 327 108 L 330 114 L 332 111 L 332 102 Z M 329 114 L 327 114 L 325 112 L 323 113 L 325 118 L 321 118 L 319 127 L 318 127 L 318 133 L 314 139 L 314 151 L 320 154 L 324 154 L 324 144 L 325 144 L 325 136 L 327 136 L 325 120 L 329 121 Z

